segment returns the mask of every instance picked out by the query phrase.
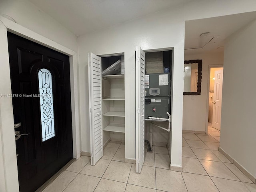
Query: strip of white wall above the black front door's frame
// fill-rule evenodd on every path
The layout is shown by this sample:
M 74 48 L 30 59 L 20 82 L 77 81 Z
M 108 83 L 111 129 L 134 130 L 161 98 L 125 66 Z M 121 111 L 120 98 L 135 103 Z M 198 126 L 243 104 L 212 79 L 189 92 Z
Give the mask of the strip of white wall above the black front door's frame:
M 67 28 L 27 0 L 1 0 L 0 15 L 77 52 L 77 38 Z

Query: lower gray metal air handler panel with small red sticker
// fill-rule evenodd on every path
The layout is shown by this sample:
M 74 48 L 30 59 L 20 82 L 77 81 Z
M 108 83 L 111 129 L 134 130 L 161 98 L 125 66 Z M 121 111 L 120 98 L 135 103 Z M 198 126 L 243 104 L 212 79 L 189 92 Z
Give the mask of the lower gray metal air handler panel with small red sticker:
M 145 102 L 145 118 L 160 117 L 168 118 L 166 112 L 170 113 L 170 100 L 168 97 L 146 97 L 151 99 L 151 103 Z

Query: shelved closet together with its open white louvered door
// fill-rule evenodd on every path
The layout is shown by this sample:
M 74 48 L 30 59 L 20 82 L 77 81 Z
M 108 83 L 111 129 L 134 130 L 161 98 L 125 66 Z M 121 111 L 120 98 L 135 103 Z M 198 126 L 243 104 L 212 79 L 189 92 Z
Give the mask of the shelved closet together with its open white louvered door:
M 116 66 L 120 60 L 121 66 Z M 108 75 L 102 76 L 103 71 Z M 89 53 L 88 76 L 91 164 L 95 165 L 109 141 L 125 141 L 124 53 Z

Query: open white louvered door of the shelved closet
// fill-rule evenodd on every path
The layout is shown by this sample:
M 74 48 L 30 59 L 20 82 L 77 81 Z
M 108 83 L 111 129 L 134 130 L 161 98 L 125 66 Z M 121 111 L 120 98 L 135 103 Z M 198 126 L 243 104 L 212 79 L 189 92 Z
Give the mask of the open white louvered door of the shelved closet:
M 103 156 L 101 58 L 88 53 L 91 165 Z

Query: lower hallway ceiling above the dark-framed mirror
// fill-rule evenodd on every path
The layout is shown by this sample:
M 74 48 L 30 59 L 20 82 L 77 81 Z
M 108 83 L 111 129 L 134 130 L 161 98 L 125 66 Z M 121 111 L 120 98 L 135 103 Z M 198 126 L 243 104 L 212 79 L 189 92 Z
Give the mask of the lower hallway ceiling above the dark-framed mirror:
M 226 38 L 255 19 L 256 12 L 248 12 L 186 21 L 185 54 L 223 52 Z M 204 32 L 210 34 L 200 37 Z

